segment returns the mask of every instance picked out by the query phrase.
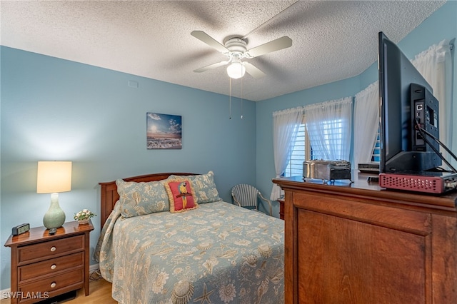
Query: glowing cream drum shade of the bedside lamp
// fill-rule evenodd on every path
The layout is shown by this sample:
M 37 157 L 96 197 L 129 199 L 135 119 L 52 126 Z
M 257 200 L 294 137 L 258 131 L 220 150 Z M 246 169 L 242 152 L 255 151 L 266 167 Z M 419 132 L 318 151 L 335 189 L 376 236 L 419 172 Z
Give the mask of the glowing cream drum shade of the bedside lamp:
M 39 161 L 36 193 L 71 191 L 71 161 Z

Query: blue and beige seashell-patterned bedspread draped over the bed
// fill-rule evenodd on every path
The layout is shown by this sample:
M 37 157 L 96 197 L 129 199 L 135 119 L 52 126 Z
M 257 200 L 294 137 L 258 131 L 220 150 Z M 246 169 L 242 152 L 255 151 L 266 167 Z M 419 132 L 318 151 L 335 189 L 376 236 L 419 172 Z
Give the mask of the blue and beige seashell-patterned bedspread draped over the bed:
M 284 223 L 218 201 L 121 218 L 94 256 L 119 303 L 283 303 Z

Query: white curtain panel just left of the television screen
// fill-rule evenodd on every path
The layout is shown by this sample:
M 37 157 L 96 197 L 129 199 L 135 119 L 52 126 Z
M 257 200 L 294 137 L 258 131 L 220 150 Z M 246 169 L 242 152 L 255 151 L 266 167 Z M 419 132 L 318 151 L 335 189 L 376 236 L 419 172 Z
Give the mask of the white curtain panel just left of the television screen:
M 354 150 L 353 164 L 371 161 L 379 128 L 379 86 L 371 83 L 356 94 L 354 104 Z M 356 168 L 356 167 L 355 167 Z

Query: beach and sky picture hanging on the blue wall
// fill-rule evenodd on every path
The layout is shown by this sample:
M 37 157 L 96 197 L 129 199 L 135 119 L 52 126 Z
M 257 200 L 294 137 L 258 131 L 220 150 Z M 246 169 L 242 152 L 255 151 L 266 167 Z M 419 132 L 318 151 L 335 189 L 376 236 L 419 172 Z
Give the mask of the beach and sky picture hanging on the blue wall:
M 146 113 L 148 149 L 181 149 L 181 116 Z

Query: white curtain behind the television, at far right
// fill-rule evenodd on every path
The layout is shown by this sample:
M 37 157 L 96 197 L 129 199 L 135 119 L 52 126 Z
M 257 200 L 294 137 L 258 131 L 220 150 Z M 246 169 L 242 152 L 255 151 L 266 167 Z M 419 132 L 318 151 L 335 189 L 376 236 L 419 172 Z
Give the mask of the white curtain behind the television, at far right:
M 421 72 L 423 78 L 433 88 L 433 96 L 439 102 L 439 131 L 440 141 L 452 151 L 452 59 L 451 46 L 447 40 L 439 44 L 433 44 L 428 50 L 416 55 L 411 60 L 416 69 Z M 443 156 L 450 160 L 448 153 L 441 150 Z

